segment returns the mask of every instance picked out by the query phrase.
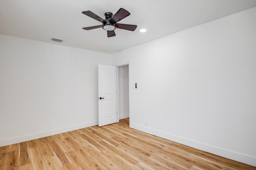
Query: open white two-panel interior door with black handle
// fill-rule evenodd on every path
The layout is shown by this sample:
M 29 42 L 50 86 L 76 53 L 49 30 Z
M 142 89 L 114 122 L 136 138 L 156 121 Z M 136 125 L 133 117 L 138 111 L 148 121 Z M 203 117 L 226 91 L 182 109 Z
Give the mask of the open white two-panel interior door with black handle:
M 99 126 L 118 122 L 116 111 L 116 66 L 98 65 Z

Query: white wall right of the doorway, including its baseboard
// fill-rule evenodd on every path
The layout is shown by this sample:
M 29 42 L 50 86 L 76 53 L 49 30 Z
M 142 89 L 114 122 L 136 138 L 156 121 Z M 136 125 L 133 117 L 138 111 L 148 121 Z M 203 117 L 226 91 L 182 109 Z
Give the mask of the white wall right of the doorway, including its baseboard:
M 115 53 L 138 84 L 130 126 L 256 166 L 255 16 L 252 8 Z

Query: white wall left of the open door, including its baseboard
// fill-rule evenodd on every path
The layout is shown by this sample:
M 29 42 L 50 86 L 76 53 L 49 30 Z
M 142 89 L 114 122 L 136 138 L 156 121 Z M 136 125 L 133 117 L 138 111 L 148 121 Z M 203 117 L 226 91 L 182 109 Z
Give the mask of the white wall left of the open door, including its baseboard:
M 111 55 L 0 35 L 0 147 L 98 124 Z

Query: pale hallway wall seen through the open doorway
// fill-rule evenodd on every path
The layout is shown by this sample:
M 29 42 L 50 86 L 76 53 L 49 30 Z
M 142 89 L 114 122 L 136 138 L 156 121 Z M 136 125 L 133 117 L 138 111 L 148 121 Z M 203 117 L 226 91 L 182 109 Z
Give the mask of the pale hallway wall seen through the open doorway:
M 129 65 L 118 66 L 119 119 L 129 117 Z

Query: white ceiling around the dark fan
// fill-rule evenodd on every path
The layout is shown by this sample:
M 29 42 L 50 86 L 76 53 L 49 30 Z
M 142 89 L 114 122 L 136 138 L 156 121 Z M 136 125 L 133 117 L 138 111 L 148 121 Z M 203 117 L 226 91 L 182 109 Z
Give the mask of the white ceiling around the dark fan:
M 0 0 L 0 34 L 112 54 L 255 6 L 256 0 Z M 82 29 L 101 24 L 82 11 L 105 19 L 119 8 L 131 15 L 118 23 L 138 25 L 135 31 L 116 29 L 108 38 L 102 28 Z

